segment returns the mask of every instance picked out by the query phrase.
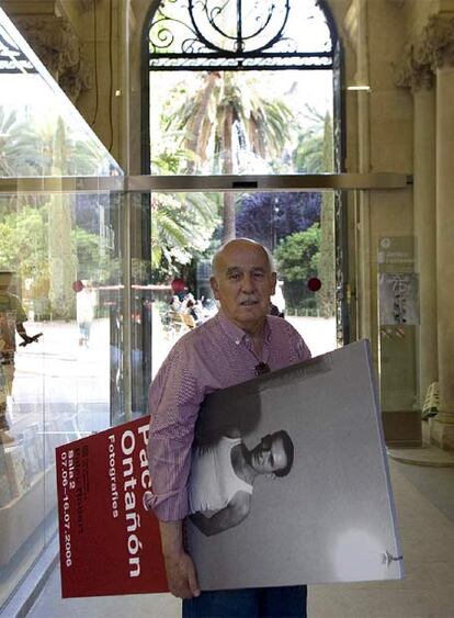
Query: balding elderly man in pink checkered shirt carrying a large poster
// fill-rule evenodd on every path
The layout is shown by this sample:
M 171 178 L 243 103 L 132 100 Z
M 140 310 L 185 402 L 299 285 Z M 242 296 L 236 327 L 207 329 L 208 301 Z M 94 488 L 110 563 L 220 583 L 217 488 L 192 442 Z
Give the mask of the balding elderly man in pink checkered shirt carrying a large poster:
M 306 616 L 305 586 L 201 593 L 183 543 L 191 446 L 205 396 L 310 357 L 299 334 L 269 315 L 275 284 L 264 247 L 245 238 L 222 247 L 211 279 L 219 313 L 177 342 L 150 385 L 149 507 L 160 523 L 170 592 L 184 599 L 183 618 Z

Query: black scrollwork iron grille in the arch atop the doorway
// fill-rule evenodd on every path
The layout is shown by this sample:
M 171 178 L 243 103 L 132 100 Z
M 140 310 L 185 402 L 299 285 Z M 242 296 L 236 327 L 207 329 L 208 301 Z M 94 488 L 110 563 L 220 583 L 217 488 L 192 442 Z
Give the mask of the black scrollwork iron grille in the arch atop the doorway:
M 150 22 L 149 67 L 332 69 L 334 32 L 322 0 L 164 0 Z

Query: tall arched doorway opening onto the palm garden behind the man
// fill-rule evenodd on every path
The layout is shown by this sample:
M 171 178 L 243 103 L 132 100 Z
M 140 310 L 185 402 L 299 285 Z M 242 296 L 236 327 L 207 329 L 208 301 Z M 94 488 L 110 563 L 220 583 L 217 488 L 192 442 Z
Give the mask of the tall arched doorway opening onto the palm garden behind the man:
M 188 301 L 197 303 L 195 325 L 209 316 L 211 257 L 240 236 L 273 254 L 282 271 L 277 308 L 288 319 L 320 321 L 326 335 L 317 337 L 317 351 L 324 340 L 319 351 L 332 349 L 336 316 L 344 330 L 344 313 L 336 311 L 336 278 L 339 288 L 344 266 L 344 252 L 336 248 L 337 238 L 343 240 L 339 226 L 336 234 L 341 204 L 333 192 L 288 192 L 283 180 L 340 167 L 333 130 L 340 124 L 333 95 L 340 53 L 330 13 L 324 2 L 270 2 L 257 14 L 241 2 L 174 4 L 161 2 L 149 20 L 144 170 L 190 177 L 194 192 L 175 184 L 150 196 L 150 249 L 141 257 L 149 258 L 152 283 L 160 286 L 152 372 L 167 353 L 159 340 L 173 341 L 194 327 L 179 315 Z M 197 188 L 201 177 L 216 182 L 232 175 L 234 191 Z M 258 192 L 245 175 L 275 176 L 282 190 Z M 172 301 L 178 312 L 169 311 Z

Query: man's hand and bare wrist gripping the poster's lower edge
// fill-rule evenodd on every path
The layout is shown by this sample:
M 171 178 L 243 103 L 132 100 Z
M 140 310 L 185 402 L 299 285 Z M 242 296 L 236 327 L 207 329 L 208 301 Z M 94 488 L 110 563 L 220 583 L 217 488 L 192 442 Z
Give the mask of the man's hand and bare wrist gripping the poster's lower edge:
M 195 566 L 183 546 L 183 523 L 159 521 L 159 528 L 170 592 L 179 598 L 198 596 Z

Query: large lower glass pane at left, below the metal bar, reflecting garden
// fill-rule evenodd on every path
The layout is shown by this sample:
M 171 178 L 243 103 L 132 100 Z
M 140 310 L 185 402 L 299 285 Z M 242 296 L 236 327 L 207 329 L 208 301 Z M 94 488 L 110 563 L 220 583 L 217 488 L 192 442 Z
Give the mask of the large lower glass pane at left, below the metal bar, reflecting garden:
M 0 324 L 23 322 L 29 336 L 42 334 L 25 347 L 15 334 L 13 363 L 0 349 L 0 527 L 9 535 L 0 543 L 3 596 L 55 533 L 55 448 L 123 414 L 123 286 L 118 198 L 3 195 L 0 206 L 0 270 L 14 269 L 10 290 L 18 299 L 14 311 L 2 312 L 0 293 Z M 33 555 L 19 559 L 27 539 Z

